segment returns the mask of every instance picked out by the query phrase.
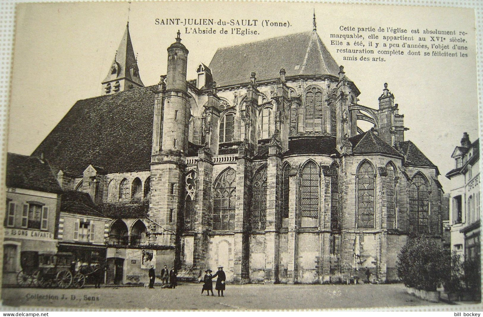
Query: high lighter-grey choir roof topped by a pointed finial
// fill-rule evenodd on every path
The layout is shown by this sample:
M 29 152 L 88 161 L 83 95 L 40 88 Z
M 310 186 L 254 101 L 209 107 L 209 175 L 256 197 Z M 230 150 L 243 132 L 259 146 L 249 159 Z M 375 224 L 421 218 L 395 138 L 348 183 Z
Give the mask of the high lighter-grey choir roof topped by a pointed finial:
M 332 75 L 339 66 L 315 31 L 219 48 L 209 68 L 217 86 L 248 83 L 251 72 L 258 81 L 285 76 Z

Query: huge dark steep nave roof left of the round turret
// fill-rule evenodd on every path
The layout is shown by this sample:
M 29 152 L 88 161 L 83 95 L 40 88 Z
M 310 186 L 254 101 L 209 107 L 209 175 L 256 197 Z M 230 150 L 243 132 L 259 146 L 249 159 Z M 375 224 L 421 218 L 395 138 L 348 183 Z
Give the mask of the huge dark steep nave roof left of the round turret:
M 33 155 L 54 170 L 81 175 L 89 165 L 110 171 L 149 169 L 156 85 L 77 101 Z

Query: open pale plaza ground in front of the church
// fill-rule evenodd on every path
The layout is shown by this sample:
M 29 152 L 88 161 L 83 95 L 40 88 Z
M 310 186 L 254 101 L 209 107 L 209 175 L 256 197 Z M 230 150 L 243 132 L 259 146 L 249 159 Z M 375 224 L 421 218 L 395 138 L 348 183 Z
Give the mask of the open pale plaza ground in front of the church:
M 448 310 L 461 311 L 461 304 L 474 304 L 429 303 L 407 294 L 402 284 L 227 285 L 224 297 L 218 297 L 216 290 L 214 293 L 214 297 L 201 295 L 201 284 L 183 284 L 176 289 L 109 286 L 101 289 L 3 288 L 1 297 L 3 306 L 79 309 L 250 310 L 405 306 L 438 306 L 441 309 L 446 306 Z

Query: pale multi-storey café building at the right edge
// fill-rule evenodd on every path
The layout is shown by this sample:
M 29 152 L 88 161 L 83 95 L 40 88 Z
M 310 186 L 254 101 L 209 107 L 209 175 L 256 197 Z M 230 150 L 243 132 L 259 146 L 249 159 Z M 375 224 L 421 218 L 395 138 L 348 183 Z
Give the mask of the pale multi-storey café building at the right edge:
M 451 249 L 462 260 L 480 259 L 480 139 L 471 143 L 465 132 L 451 157 Z

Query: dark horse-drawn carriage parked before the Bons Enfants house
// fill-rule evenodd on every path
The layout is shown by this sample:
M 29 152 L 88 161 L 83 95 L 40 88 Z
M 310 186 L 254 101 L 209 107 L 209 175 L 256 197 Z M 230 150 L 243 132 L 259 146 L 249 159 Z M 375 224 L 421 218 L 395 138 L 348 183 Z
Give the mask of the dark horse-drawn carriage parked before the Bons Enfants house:
M 69 287 L 83 288 L 86 277 L 93 276 L 102 264 L 94 267 L 90 264 L 79 265 L 71 252 L 32 252 L 21 259 L 22 271 L 17 274 L 17 284 L 28 287 Z M 103 271 L 102 271 L 103 272 Z

